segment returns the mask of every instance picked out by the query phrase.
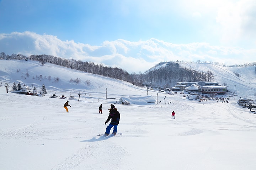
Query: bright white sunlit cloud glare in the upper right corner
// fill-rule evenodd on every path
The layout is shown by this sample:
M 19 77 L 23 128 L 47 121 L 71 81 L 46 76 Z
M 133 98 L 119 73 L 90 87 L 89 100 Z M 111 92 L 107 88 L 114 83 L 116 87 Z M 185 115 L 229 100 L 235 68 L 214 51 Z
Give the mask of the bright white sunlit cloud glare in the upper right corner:
M 221 26 L 224 43 L 256 39 L 256 1 L 240 0 L 223 4 L 216 21 Z

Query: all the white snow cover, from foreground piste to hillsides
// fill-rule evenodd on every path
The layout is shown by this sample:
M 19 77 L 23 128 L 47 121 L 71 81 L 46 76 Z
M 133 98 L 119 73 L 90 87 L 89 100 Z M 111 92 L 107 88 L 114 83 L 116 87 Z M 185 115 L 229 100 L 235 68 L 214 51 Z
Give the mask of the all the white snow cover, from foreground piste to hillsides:
M 254 170 L 256 114 L 237 104 L 240 97 L 256 98 L 254 67 L 187 67 L 205 72 L 214 67 L 210 71 L 216 81 L 227 83 L 231 92 L 236 85 L 236 96 L 223 96 L 229 98 L 225 99 L 229 103 L 196 102 L 180 92 L 168 95 L 147 91 L 124 81 L 49 63 L 41 66 L 35 61 L 0 60 L 0 169 Z M 241 76 L 235 77 L 231 69 L 239 70 Z M 60 81 L 54 82 L 54 77 Z M 70 82 L 76 78 L 80 83 Z M 18 81 L 31 88 L 33 84 L 37 90 L 44 84 L 47 94 L 11 93 L 12 84 Z M 10 85 L 8 93 L 6 82 Z M 82 95 L 78 101 L 79 92 Z M 50 98 L 52 94 L 58 97 Z M 69 100 L 72 107 L 68 107 L 68 113 L 61 95 L 75 97 Z M 140 100 L 147 95 L 158 104 L 143 104 Z M 133 97 L 133 101 L 129 105 L 115 104 L 121 97 Z M 100 104 L 103 114 L 98 112 Z M 123 135 L 97 136 L 106 130 L 110 104 L 121 114 L 118 132 Z

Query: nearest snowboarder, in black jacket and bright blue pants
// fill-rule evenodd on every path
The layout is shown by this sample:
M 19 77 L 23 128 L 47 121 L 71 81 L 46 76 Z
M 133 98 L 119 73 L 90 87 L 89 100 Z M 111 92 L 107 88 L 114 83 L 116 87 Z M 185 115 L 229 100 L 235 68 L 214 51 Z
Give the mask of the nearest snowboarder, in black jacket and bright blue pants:
M 116 135 L 117 125 L 119 124 L 119 120 L 120 120 L 120 113 L 117 111 L 117 108 L 115 108 L 114 104 L 110 104 L 110 106 L 111 106 L 111 108 L 108 109 L 108 110 L 110 110 L 109 111 L 110 114 L 108 115 L 108 118 L 105 121 L 105 125 L 106 125 L 108 123 L 108 121 L 110 121 L 110 119 L 111 119 L 111 122 L 107 126 L 106 132 L 105 132 L 105 135 L 107 135 L 107 136 L 110 134 L 110 130 L 113 126 L 114 126 L 113 134 Z

